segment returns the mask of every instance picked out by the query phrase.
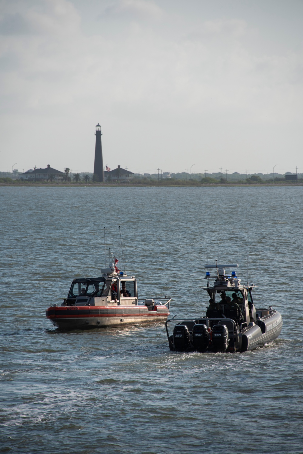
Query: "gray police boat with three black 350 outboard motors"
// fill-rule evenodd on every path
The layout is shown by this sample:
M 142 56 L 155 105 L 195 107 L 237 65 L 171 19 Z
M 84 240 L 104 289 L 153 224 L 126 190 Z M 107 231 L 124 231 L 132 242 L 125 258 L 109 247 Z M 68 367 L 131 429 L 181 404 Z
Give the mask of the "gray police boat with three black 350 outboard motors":
M 282 316 L 272 306 L 257 309 L 252 290 L 254 284 L 241 284 L 236 271 L 225 274 L 225 268 L 238 268 L 238 264 L 205 265 L 215 269 L 215 276 L 206 271 L 205 279 L 210 297 L 206 316 L 187 319 L 175 317 L 166 321 L 166 334 L 172 351 L 236 352 L 254 350 L 274 341 L 282 330 Z M 210 279 L 214 278 L 213 285 Z M 231 300 L 231 298 L 233 298 Z M 176 321 L 178 323 L 176 324 Z M 176 324 L 172 334 L 169 328 Z

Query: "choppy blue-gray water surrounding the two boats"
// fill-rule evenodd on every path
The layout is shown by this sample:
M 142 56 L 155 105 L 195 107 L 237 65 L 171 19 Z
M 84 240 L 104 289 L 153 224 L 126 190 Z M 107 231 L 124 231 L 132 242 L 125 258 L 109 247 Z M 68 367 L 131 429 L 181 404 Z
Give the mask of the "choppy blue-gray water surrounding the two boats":
M 303 188 L 0 188 L 0 452 L 303 453 Z M 169 350 L 163 325 L 57 331 L 45 309 L 103 266 L 122 227 L 139 296 L 199 315 L 206 254 L 238 262 L 280 338 Z

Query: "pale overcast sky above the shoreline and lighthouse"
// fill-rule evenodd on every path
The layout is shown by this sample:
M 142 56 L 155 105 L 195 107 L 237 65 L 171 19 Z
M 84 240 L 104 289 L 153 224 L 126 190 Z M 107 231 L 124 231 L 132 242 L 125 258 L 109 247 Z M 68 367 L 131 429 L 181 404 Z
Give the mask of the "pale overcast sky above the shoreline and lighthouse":
M 0 0 L 0 171 L 302 173 L 302 114 L 302 0 Z

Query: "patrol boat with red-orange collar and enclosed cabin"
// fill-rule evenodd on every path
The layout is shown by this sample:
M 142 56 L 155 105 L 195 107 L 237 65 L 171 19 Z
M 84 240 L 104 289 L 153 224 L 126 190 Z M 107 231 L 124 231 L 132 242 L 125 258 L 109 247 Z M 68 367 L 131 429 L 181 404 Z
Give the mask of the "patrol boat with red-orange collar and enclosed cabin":
M 138 299 L 137 279 L 110 264 L 100 277 L 74 279 L 68 297 L 50 306 L 46 318 L 61 330 L 158 323 L 169 315 L 171 298 L 164 300 Z

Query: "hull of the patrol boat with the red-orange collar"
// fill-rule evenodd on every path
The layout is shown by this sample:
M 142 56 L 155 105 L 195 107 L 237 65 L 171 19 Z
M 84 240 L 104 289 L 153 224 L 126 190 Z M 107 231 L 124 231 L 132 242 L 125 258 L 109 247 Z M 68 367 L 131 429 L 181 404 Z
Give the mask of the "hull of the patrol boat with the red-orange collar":
M 83 330 L 164 322 L 166 306 L 51 306 L 46 311 L 54 326 L 61 330 Z

